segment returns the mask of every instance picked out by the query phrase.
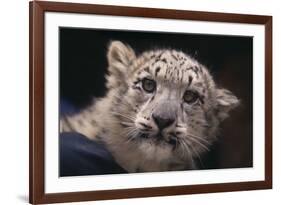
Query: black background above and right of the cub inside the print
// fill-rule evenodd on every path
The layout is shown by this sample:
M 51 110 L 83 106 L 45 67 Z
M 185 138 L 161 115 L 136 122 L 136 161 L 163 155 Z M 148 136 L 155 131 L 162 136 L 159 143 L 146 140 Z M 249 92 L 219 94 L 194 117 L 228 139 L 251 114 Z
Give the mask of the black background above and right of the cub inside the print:
M 109 42 L 120 40 L 136 52 L 174 48 L 206 65 L 215 82 L 232 91 L 241 105 L 222 123 L 219 140 L 202 156 L 201 168 L 251 167 L 252 37 L 60 28 L 60 99 L 82 109 L 104 96 Z

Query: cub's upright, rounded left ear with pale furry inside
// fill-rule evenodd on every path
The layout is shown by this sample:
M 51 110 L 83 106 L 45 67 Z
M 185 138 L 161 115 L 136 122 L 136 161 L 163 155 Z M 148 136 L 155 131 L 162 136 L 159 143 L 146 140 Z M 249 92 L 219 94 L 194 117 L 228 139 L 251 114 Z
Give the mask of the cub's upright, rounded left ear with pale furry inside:
M 130 65 L 136 59 L 134 50 L 121 41 L 112 41 L 107 52 L 109 74 L 118 80 L 125 80 L 130 73 Z

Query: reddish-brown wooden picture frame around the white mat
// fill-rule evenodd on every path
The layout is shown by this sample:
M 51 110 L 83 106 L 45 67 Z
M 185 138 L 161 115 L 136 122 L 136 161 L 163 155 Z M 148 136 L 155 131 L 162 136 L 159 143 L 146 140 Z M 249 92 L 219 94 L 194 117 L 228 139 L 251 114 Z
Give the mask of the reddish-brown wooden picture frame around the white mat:
M 30 20 L 30 139 L 29 200 L 32 204 L 167 196 L 272 188 L 272 17 L 153 8 L 33 1 Z M 203 22 L 241 23 L 264 26 L 265 31 L 265 133 L 264 180 L 148 188 L 95 190 L 69 193 L 45 192 L 45 13 L 64 12 Z

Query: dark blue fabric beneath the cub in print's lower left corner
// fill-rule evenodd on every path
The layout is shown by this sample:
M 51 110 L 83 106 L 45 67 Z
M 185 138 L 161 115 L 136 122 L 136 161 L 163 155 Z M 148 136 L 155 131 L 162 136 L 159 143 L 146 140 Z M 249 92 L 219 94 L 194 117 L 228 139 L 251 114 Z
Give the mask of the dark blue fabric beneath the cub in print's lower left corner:
M 113 159 L 104 144 L 78 133 L 62 133 L 60 176 L 81 176 L 127 173 Z

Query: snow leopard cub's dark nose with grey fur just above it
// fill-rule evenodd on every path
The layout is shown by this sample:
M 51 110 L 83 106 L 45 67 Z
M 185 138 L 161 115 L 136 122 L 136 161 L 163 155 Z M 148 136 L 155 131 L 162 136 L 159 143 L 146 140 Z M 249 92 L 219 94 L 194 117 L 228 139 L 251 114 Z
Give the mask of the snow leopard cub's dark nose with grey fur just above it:
M 175 122 L 176 109 L 172 101 L 164 101 L 156 106 L 152 113 L 152 118 L 159 130 L 163 130 Z

